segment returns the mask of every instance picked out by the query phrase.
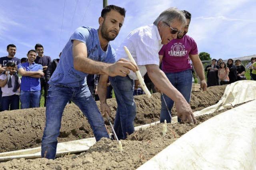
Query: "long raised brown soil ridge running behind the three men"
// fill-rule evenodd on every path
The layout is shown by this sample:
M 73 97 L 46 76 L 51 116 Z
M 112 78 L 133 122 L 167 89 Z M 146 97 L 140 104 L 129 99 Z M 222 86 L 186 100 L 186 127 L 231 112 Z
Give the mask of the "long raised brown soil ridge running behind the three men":
M 194 111 L 216 104 L 224 94 L 226 86 L 214 86 L 206 92 L 192 92 L 191 107 Z M 148 99 L 145 95 L 135 96 L 137 115 L 135 125 L 158 121 L 160 117 L 160 94 Z M 111 109 L 111 119 L 116 113 L 116 100 L 107 100 Z M 97 102 L 99 106 L 99 102 Z M 172 115 L 176 115 L 175 108 Z M 108 122 L 105 121 L 106 125 Z M 0 152 L 28 149 L 41 145 L 45 125 L 45 107 L 0 112 Z M 92 129 L 80 109 L 68 104 L 63 113 L 62 127 L 58 142 L 67 142 L 94 137 Z

